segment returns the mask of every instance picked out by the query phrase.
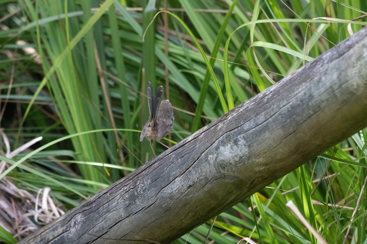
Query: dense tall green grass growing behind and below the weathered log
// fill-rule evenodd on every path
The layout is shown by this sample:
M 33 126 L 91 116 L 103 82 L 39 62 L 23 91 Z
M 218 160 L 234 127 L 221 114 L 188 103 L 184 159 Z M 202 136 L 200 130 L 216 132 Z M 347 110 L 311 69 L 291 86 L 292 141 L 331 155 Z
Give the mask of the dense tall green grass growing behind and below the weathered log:
M 363 0 L 168 1 L 165 29 L 163 6 L 0 0 L 0 125 L 11 150 L 37 136 L 33 149 L 44 146 L 0 156 L 14 165 L 0 178 L 32 194 L 50 187 L 67 211 L 153 157 L 139 142 L 148 81 L 168 75 L 179 142 L 344 40 L 348 23 L 361 29 L 367 11 Z M 363 129 L 222 213 L 209 241 L 317 243 L 292 200 L 328 243 L 367 243 L 366 138 Z M 211 224 L 174 243 L 203 243 Z M 0 228 L 0 239 L 17 242 L 13 231 Z

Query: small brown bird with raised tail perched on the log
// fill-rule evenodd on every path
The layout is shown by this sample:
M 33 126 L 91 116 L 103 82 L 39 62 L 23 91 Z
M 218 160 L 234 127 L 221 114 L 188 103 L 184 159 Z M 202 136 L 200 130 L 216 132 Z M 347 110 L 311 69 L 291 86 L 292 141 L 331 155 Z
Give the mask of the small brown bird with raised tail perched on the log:
M 163 100 L 163 86 L 159 86 L 156 95 L 153 95 L 152 83 L 148 82 L 148 107 L 149 107 L 149 120 L 144 125 L 143 131 L 140 134 L 140 141 L 144 139 L 144 136 L 150 140 L 150 147 L 152 147 L 155 156 L 156 153 L 153 149 L 153 140 L 156 140 L 163 146 L 169 148 L 165 144 L 161 143 L 161 139 L 170 133 L 173 127 L 173 108 L 172 104 L 168 100 Z

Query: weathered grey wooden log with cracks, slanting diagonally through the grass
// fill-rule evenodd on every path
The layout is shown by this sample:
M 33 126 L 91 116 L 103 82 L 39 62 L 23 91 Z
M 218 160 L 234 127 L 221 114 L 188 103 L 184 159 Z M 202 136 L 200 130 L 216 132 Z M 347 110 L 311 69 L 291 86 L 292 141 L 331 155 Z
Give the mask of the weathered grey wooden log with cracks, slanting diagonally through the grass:
M 21 243 L 177 239 L 366 127 L 366 63 L 364 28 Z

